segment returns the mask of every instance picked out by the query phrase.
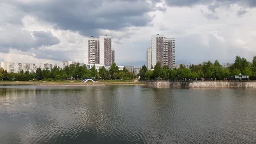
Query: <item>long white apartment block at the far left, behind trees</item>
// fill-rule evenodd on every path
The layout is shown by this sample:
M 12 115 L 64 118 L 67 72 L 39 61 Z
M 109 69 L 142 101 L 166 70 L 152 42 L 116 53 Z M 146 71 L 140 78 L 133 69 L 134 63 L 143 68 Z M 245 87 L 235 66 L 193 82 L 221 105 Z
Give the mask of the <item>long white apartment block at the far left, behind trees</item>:
M 24 63 L 24 62 L 1 62 L 1 68 L 7 72 L 18 73 L 21 70 L 24 72 L 36 72 L 35 63 Z

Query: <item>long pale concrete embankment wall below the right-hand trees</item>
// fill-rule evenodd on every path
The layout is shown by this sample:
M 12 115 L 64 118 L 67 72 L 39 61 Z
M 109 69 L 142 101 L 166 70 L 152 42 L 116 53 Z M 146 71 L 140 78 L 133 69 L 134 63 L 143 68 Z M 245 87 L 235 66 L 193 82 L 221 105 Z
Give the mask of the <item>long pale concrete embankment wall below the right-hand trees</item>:
M 212 88 L 212 87 L 240 87 L 256 88 L 256 82 L 166 82 L 166 81 L 145 81 L 150 86 L 187 87 L 187 88 Z

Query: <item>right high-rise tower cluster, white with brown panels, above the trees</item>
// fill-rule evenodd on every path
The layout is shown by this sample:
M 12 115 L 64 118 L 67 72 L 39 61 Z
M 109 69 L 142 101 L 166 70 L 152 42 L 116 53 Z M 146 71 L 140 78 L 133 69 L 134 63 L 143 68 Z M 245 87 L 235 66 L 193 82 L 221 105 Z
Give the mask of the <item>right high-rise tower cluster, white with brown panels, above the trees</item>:
M 154 67 L 157 62 L 161 66 L 175 68 L 175 39 L 169 39 L 159 34 L 152 35 L 151 49 L 147 49 L 148 69 L 151 69 L 151 66 Z

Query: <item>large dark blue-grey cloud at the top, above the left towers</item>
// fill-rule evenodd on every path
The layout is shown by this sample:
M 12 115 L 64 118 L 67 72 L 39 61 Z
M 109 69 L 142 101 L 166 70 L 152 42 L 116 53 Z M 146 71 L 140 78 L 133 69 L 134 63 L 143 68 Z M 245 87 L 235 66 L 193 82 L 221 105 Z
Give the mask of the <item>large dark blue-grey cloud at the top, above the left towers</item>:
M 98 35 L 98 29 L 121 29 L 146 26 L 152 21 L 147 13 L 160 10 L 159 0 L 45 0 L 24 3 L 10 0 L 22 13 L 55 24 L 56 29 L 78 31 L 82 35 Z M 162 10 L 162 9 L 161 9 Z

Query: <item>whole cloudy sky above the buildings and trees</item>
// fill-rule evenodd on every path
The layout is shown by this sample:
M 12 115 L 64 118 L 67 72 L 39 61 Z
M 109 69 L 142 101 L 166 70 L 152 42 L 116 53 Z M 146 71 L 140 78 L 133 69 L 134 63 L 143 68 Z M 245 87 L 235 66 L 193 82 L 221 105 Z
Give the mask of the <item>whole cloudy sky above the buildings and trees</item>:
M 176 63 L 256 55 L 256 0 L 0 0 L 0 61 L 83 61 L 83 39 L 111 35 L 118 65 L 146 64 L 151 35 Z

